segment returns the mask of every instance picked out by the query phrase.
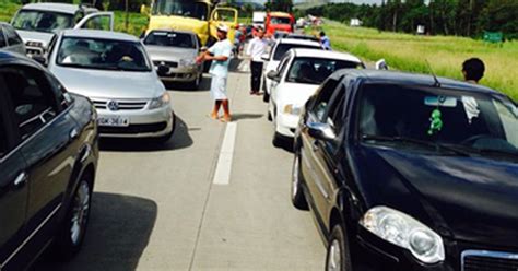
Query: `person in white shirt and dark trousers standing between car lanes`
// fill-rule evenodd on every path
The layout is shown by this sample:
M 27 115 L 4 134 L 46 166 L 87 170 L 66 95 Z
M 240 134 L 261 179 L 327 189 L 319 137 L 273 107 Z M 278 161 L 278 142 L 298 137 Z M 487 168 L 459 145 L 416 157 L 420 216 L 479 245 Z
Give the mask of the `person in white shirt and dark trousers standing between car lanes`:
M 268 42 L 264 39 L 264 31 L 259 27 L 256 37 L 250 42 L 247 55 L 251 57 L 251 91 L 250 95 L 259 95 L 262 78 L 262 55 L 267 51 Z

